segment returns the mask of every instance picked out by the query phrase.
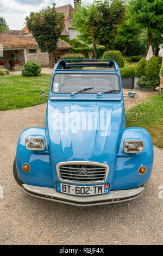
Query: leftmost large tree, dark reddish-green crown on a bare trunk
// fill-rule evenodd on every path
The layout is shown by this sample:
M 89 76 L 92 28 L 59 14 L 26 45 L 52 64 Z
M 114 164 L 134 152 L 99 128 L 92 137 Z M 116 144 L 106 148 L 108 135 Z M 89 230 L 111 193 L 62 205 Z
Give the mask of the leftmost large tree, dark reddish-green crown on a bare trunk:
M 49 68 L 53 68 L 55 64 L 55 50 L 57 49 L 57 42 L 59 36 L 64 29 L 64 13 L 57 13 L 55 4 L 53 7 L 30 13 L 26 17 L 27 27 L 32 32 L 39 48 L 47 51 L 49 54 Z

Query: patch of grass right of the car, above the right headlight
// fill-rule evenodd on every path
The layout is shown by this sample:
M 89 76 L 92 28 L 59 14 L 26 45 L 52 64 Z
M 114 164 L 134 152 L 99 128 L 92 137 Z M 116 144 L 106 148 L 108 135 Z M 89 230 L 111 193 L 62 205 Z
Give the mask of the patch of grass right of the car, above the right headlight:
M 127 127 L 143 127 L 151 134 L 153 144 L 163 148 L 163 94 L 130 108 L 126 114 Z

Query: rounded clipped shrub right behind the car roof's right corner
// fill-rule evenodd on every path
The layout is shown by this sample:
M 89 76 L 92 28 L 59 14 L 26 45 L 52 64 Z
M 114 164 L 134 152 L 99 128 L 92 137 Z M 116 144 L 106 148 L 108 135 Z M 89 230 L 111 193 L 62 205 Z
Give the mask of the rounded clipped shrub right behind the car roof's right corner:
M 118 64 L 120 68 L 123 68 L 124 66 L 124 59 L 120 51 L 104 52 L 103 59 L 113 59 L 115 60 L 115 62 Z

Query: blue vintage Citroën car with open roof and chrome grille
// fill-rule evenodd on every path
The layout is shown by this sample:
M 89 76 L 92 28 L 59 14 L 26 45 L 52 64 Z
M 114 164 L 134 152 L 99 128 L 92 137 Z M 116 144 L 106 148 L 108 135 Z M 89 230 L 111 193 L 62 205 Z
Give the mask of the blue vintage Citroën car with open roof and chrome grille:
M 152 166 L 148 131 L 126 128 L 117 63 L 60 60 L 52 74 L 45 128 L 30 127 L 19 138 L 13 165 L 17 183 L 28 194 L 55 202 L 118 203 L 141 195 Z

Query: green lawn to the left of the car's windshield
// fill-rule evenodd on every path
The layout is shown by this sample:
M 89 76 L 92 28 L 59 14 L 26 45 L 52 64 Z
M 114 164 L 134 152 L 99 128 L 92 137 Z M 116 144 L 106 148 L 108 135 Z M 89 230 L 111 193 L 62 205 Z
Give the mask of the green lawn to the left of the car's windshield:
M 51 75 L 35 77 L 0 76 L 0 110 L 39 105 L 47 101 L 40 93 L 49 91 Z

